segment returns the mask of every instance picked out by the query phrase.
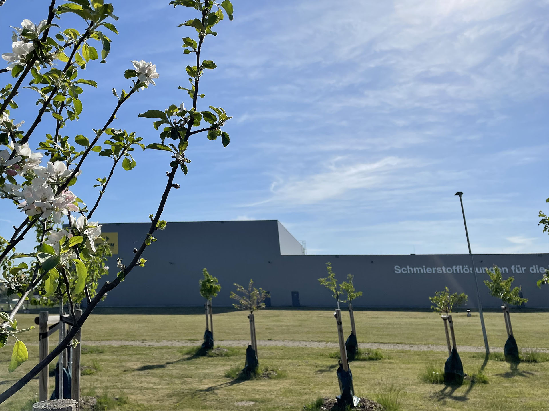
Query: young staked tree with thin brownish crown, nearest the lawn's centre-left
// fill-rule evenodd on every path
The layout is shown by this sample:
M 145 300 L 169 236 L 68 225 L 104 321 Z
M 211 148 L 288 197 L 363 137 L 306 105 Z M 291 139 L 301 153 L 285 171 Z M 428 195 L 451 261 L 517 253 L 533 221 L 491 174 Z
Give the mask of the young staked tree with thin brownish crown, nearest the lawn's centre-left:
M 255 288 L 254 282 L 251 279 L 248 284 L 248 289 L 245 289 L 236 283 L 234 285 L 237 287 L 237 292 L 231 292 L 230 297 L 237 302 L 233 303 L 233 307 L 237 310 L 247 310 L 250 312 L 248 318 L 250 319 L 251 345 L 248 346 L 246 352 L 246 367 L 244 367 L 243 370 L 244 374 L 250 375 L 256 372 L 257 365 L 259 364 L 259 362 L 257 362 L 257 338 L 255 334 L 254 311 L 264 309 L 265 299 L 270 295 L 262 288 Z

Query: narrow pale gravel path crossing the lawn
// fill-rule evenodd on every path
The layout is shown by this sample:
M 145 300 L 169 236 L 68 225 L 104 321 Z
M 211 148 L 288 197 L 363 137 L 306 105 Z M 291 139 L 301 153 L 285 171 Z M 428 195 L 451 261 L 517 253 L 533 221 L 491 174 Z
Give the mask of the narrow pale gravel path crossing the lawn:
M 129 345 L 134 347 L 191 347 L 201 344 L 201 341 L 182 340 L 182 341 L 83 341 L 85 345 Z M 216 340 L 216 345 L 224 347 L 245 347 L 249 344 L 248 340 Z M 304 347 L 304 348 L 333 348 L 339 347 L 338 343 L 325 343 L 322 341 L 292 341 L 292 340 L 257 340 L 257 345 L 261 347 Z M 381 350 L 405 350 L 405 351 L 447 351 L 445 345 L 434 344 L 390 344 L 390 343 L 359 343 L 358 346 L 363 349 L 381 349 Z M 484 352 L 484 347 L 472 347 L 458 345 L 459 351 L 466 352 Z M 541 352 L 549 352 L 547 349 L 536 349 Z M 490 347 L 490 351 L 503 352 L 503 347 Z

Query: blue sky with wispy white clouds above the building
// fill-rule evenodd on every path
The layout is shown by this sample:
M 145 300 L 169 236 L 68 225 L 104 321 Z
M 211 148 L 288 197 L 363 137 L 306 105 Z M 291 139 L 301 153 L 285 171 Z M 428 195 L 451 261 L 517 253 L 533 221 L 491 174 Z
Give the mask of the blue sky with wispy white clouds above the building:
M 45 18 L 46 0 L 0 8 L 0 49 L 9 27 Z M 158 141 L 137 113 L 189 105 L 181 37 L 194 18 L 168 1 L 114 1 L 107 64 L 82 76 L 100 88 L 82 96 L 85 112 L 64 134 L 90 135 L 110 115 L 110 89 L 128 87 L 130 60 L 156 64 L 156 87 L 128 101 L 113 124 Z M 170 196 L 167 221 L 278 219 L 309 254 L 467 253 L 456 191 L 464 192 L 474 253 L 548 252 L 537 226 L 547 210 L 549 162 L 549 2 L 535 0 L 235 0 L 234 21 L 209 37 L 201 91 L 234 118 L 231 144 L 195 136 L 187 176 Z M 64 18 L 81 28 L 77 20 Z M 0 75 L 1 83 L 10 81 Z M 32 122 L 32 92 L 18 121 Z M 32 143 L 51 132 L 40 125 Z M 158 205 L 169 157 L 136 154 L 120 169 L 94 214 L 101 222 L 147 221 Z M 108 172 L 93 157 L 77 195 L 97 196 Z M 1 232 L 22 218 L 0 202 Z M 192 241 L 192 239 L 187 239 Z

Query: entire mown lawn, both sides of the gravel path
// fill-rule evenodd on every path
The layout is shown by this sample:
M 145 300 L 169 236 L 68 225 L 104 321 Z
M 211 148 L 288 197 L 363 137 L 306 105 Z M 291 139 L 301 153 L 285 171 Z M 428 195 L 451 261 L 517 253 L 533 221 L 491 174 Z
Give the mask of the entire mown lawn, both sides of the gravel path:
M 145 309 L 141 309 L 143 311 Z M 215 337 L 249 338 L 244 312 L 218 309 L 214 317 Z M 52 310 L 53 312 L 54 310 Z M 318 397 L 339 393 L 333 349 L 260 347 L 262 366 L 278 368 L 285 376 L 271 380 L 234 381 L 225 373 L 244 367 L 245 347 L 232 350 L 234 356 L 191 358 L 188 347 L 91 347 L 86 340 L 197 340 L 201 341 L 204 315 L 198 309 L 150 309 L 153 313 L 129 314 L 123 310 L 102 310 L 92 315 L 83 329 L 83 347 L 91 353 L 82 356 L 87 375 L 82 376 L 82 394 L 126 398 L 112 409 L 119 410 L 302 410 Z M 127 311 L 127 310 L 126 310 Z M 109 313 L 111 312 L 111 313 Z M 166 314 L 166 312 L 173 312 Z M 337 341 L 332 310 L 265 310 L 256 315 L 258 339 Z M 19 315 L 19 327 L 29 326 L 36 314 Z M 549 348 L 547 312 L 512 313 L 513 330 L 519 347 Z M 445 344 L 440 317 L 429 312 L 358 311 L 355 313 L 358 340 L 379 343 Z M 499 312 L 485 315 L 488 338 L 493 346 L 505 343 L 505 323 Z M 348 316 L 344 316 L 349 333 Z M 455 315 L 457 343 L 483 345 L 478 315 Z M 21 335 L 29 345 L 30 360 L 8 374 L 9 343 L 0 350 L 0 389 L 5 390 L 36 363 L 37 330 Z M 57 334 L 51 336 L 51 347 Z M 380 361 L 351 364 L 355 391 L 376 399 L 384 393 L 400 393 L 401 411 L 415 410 L 547 410 L 549 406 L 549 362 L 523 363 L 518 373 L 508 364 L 489 361 L 485 374 L 488 384 L 473 384 L 452 392 L 444 385 L 424 383 L 421 374 L 429 363 L 444 367 L 444 352 L 383 351 Z M 461 352 L 465 372 L 478 372 L 483 357 Z M 50 391 L 54 380 L 50 380 Z M 2 404 L 0 409 L 20 411 L 35 398 L 38 380 Z M 254 401 L 249 407 L 237 402 Z M 111 408 L 108 408 L 111 409 Z

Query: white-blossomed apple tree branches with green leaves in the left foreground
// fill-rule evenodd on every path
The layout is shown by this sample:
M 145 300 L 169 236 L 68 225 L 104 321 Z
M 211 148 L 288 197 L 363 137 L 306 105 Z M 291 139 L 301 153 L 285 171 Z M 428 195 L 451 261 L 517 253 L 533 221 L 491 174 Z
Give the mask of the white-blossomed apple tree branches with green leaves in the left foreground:
M 211 111 L 199 111 L 198 97 L 204 98 L 204 94 L 199 94 L 198 89 L 204 70 L 216 68 L 213 61 L 201 60 L 204 41 L 208 36 L 217 35 L 212 27 L 223 20 L 224 15 L 232 20 L 232 4 L 228 0 L 219 3 L 215 0 L 175 0 L 170 4 L 174 7 L 182 5 L 198 13 L 198 18 L 180 25 L 197 32 L 197 39 L 183 38 L 184 54 L 194 55 L 195 61 L 195 65 L 186 67 L 191 85 L 188 88 L 180 87 L 188 93 L 191 107 L 186 109 L 183 104 L 172 104 L 163 111 L 149 110 L 139 114 L 138 117 L 155 119 L 153 125 L 156 130 L 162 127 L 160 141 L 147 146 L 136 133 L 111 127 L 120 107 L 137 93 L 154 85 L 155 79 L 159 78 L 156 66 L 143 60 L 132 61 L 133 67 L 124 72 L 124 77 L 130 82 L 128 91 L 122 89 L 119 93 L 112 90 L 114 109 L 106 121 L 93 130 L 92 135 L 77 134 L 69 137 L 61 134 L 65 125 L 79 119 L 83 113 L 80 98 L 84 92 L 82 87 L 98 87 L 96 82 L 81 78 L 81 72 L 95 60 L 105 62 L 109 55 L 111 39 L 105 29 L 117 34 L 112 22 L 117 20 L 112 4 L 104 3 L 103 0 L 72 0 L 56 4 L 56 0 L 51 0 L 47 19 L 38 24 L 24 20 L 13 33 L 12 52 L 2 54 L 8 65 L 1 71 L 10 72 L 14 84 L 7 84 L 0 89 L 0 149 L 4 147 L 0 150 L 0 198 L 13 202 L 23 214 L 23 221 L 14 226 L 12 236 L 0 238 L 3 244 L 0 248 L 0 264 L 7 267 L 2 282 L 10 294 L 19 296 L 13 310 L 9 314 L 2 314 L 0 327 L 0 347 L 10 339 L 15 341 L 9 372 L 13 372 L 29 358 L 26 346 L 18 336 L 25 330 L 18 329 L 15 316 L 33 290 L 42 287 L 48 295 L 60 293 L 60 298 L 69 303 L 70 316 L 75 326 L 43 361 L 0 395 L 0 403 L 47 367 L 61 351 L 71 344 L 77 344 L 78 341 L 73 339 L 98 302 L 124 281 L 135 267 L 144 266 L 147 260 L 142 255 L 156 241 L 154 232 L 166 226 L 160 217 L 167 197 L 173 188 L 180 187 L 174 182 L 176 173 L 180 169 L 183 174 L 188 172 L 188 163 L 191 161 L 187 157 L 187 149 L 191 136 L 205 132 L 209 140 L 221 136 L 223 146 L 229 144 L 229 135 L 222 132 L 221 127 L 231 117 L 226 115 L 225 110 L 214 106 L 210 106 Z M 54 18 L 60 24 L 63 23 L 65 13 L 79 16 L 83 20 L 82 28 L 62 28 L 53 23 Z M 94 44 L 99 44 L 99 51 Z M 24 82 L 29 83 L 29 86 L 22 87 Z M 14 120 L 18 109 L 15 98 L 23 89 L 37 93 L 37 112 L 29 127 L 26 127 L 27 123 Z M 35 130 L 40 122 L 47 123 L 52 133 L 39 138 Z M 106 140 L 100 142 L 102 138 Z M 31 149 L 31 146 L 44 153 Z M 136 148 L 167 152 L 169 164 L 166 164 L 166 185 L 158 209 L 149 215 L 151 224 L 147 233 L 144 233 L 141 246 L 133 250 L 133 259 L 126 264 L 119 260 L 116 279 L 105 282 L 93 296 L 89 293 L 92 284 L 88 269 L 97 253 L 101 225 L 91 221 L 91 218 L 117 164 L 121 162 L 125 170 L 135 167 L 136 161 L 131 152 Z M 85 168 L 86 160 L 94 153 L 111 158 L 113 163 L 108 176 L 97 178 L 99 193 L 89 203 L 93 206 L 88 207 L 70 187 Z M 67 224 L 66 230 L 53 228 L 54 223 L 61 222 Z M 36 227 L 39 227 L 37 231 L 40 233 L 37 251 L 16 253 L 16 246 Z M 32 262 L 30 265 L 27 262 L 16 265 L 19 258 L 31 259 Z M 74 299 L 80 293 L 86 296 L 88 305 L 76 320 Z

